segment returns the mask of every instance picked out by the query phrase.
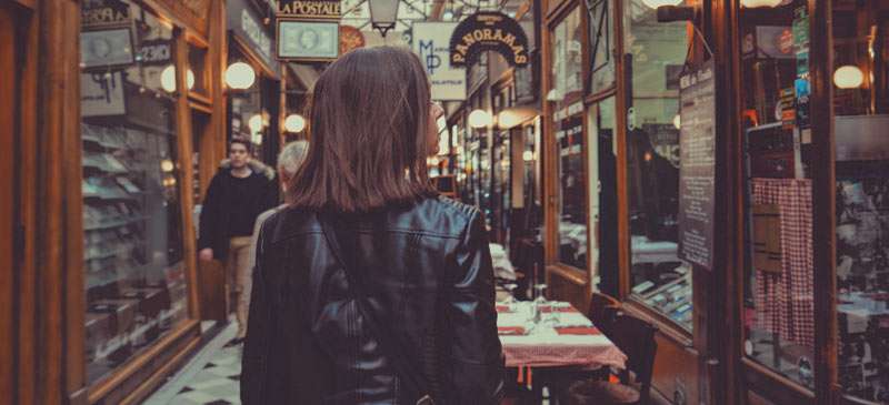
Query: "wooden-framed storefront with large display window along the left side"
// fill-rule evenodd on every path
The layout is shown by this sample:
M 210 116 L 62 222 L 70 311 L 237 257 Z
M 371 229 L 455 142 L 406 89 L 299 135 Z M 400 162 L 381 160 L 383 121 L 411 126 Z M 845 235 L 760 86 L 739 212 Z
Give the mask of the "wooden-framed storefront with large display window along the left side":
M 198 347 L 191 213 L 224 151 L 220 16 L 211 1 L 0 6 L 20 252 L 2 266 L 14 369 L 0 402 L 139 403 Z

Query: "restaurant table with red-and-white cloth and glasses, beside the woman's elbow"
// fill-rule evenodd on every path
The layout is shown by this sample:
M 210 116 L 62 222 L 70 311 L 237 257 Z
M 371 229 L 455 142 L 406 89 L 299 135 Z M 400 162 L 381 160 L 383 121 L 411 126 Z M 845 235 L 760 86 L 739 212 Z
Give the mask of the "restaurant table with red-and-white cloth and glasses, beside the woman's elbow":
M 529 322 L 531 302 L 510 312 L 497 305 L 497 327 L 507 367 L 623 368 L 627 356 L 592 322 L 568 303 L 550 302 L 555 324 Z M 543 313 L 546 318 L 550 313 Z

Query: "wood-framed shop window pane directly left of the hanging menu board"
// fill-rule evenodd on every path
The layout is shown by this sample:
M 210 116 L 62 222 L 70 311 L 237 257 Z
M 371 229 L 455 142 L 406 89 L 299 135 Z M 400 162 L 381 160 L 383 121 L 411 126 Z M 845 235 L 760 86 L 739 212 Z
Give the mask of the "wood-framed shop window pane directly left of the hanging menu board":
M 679 74 L 689 40 L 683 22 L 661 23 L 641 0 L 625 2 L 627 192 L 631 294 L 692 327 L 689 265 L 678 259 Z

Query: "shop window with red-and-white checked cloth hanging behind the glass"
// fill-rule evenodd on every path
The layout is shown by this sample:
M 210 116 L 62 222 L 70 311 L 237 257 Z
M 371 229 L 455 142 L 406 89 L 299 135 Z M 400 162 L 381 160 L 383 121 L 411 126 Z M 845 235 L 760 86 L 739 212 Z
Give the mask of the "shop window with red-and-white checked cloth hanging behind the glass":
M 815 384 L 815 270 L 806 1 L 742 8 L 745 353 Z

